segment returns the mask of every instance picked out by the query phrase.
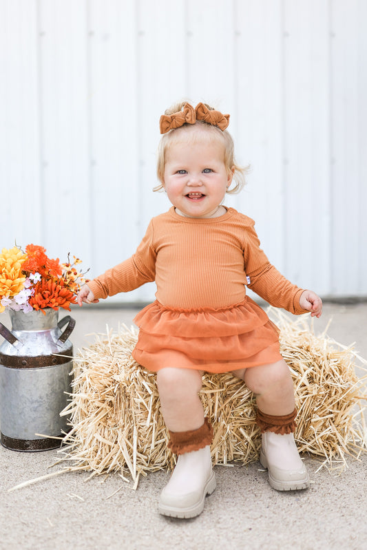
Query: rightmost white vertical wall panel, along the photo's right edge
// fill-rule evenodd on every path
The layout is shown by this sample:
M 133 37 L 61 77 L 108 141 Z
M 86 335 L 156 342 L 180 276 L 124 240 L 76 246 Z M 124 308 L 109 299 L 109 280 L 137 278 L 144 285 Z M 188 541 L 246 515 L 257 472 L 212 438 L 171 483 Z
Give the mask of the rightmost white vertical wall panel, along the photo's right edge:
M 331 291 L 334 295 L 366 295 L 366 202 L 361 207 L 362 187 L 361 159 L 366 165 L 366 149 L 361 150 L 360 135 L 366 132 L 366 25 L 361 16 L 366 15 L 363 2 L 352 0 L 332 2 L 332 136 L 333 136 L 333 277 Z M 364 19 L 366 23 L 366 19 Z M 359 34 L 359 32 L 361 34 Z M 364 36 L 364 38 L 362 38 Z M 364 76 L 361 76 L 364 75 Z M 364 140 L 366 146 L 366 140 Z M 361 279 L 364 279 L 361 288 Z

